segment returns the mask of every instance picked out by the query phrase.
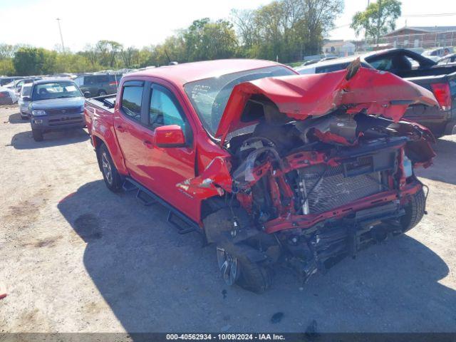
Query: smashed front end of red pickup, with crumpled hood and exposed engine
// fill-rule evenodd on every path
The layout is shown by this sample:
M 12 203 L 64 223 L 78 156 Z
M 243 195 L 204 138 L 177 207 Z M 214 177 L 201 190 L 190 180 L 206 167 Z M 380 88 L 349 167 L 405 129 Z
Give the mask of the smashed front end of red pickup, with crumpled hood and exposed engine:
M 425 196 L 413 169 L 435 154 L 430 131 L 401 120 L 416 103 L 437 105 L 427 90 L 356 62 L 235 87 L 217 131 L 231 157 L 177 185 L 223 198 L 203 222 L 227 283 L 262 291 L 277 261 L 306 281 L 418 224 Z M 246 274 L 252 264 L 263 276 Z

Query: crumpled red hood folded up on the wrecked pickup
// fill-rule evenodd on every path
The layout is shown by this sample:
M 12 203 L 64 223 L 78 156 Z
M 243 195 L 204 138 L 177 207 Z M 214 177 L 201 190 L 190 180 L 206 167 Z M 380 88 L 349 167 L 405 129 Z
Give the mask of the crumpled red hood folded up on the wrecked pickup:
M 346 70 L 312 75 L 261 78 L 233 88 L 215 136 L 242 128 L 241 115 L 254 94 L 265 95 L 279 111 L 296 120 L 318 117 L 346 105 L 347 113 L 383 115 L 398 122 L 409 105 L 438 105 L 427 89 L 392 73 L 359 67 L 353 62 Z

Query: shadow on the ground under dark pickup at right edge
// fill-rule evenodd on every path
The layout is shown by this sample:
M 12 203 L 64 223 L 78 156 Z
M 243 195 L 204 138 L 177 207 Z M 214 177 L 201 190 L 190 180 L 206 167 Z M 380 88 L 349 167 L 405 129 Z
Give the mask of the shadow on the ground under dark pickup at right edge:
M 456 142 L 439 139 L 432 146 L 437 156 L 434 165 L 427 169 L 418 169 L 419 177 L 456 185 Z

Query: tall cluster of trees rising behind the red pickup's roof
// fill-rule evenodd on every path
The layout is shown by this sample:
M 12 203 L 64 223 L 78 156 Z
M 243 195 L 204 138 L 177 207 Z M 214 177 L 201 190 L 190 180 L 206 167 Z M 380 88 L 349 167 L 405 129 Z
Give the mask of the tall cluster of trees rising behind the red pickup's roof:
M 321 51 L 321 42 L 343 11 L 343 0 L 276 0 L 250 11 L 232 11 L 242 55 L 287 63 Z

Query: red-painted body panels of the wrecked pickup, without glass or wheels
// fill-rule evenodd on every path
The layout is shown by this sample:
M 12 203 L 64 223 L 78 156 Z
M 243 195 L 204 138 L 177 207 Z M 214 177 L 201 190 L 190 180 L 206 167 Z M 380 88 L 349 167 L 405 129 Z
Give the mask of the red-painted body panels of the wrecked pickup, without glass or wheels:
M 266 95 L 276 103 L 281 112 L 297 120 L 304 120 L 309 115 L 325 115 L 340 105 L 348 105 L 352 106 L 351 113 L 355 113 L 356 110 L 367 110 L 368 113 L 385 115 L 397 121 L 408 105 L 392 104 L 390 103 L 392 100 L 437 105 L 434 96 L 428 90 L 390 73 L 365 68 L 360 68 L 350 81 L 345 79 L 346 71 L 264 78 L 241 83 L 234 88 L 217 130 L 217 137 L 222 138 L 222 142 L 210 138 L 185 94 L 185 83 L 276 65 L 268 61 L 209 61 L 128 74 L 120 81 L 113 113 L 101 107 L 86 105 L 84 113 L 93 145 L 97 148 L 100 143 L 104 143 L 121 175 L 133 177 L 180 212 L 201 224 L 202 200 L 233 190 L 230 155 L 222 142 L 230 131 L 242 126 L 240 116 L 250 96 L 256 93 Z M 123 85 L 127 81 L 144 81 L 146 87 L 154 83 L 167 88 L 174 95 L 188 120 L 192 139 L 184 141 L 182 130 L 178 126 L 152 129 L 127 118 L 119 105 Z M 337 141 L 340 137 L 324 136 L 323 138 Z M 345 144 L 343 141 L 340 142 Z M 254 180 L 250 182 L 250 185 L 253 185 L 261 177 L 269 177 L 274 207 L 281 216 L 279 219 L 267 222 L 267 231 L 289 229 L 294 227 L 292 223 L 296 220 L 299 227 L 307 227 L 306 224 L 310 225 L 312 222 L 333 217 L 331 213 L 316 217 L 312 215 L 295 217 L 293 190 L 286 183 L 284 174 L 321 163 L 336 166 L 338 158 L 316 151 L 297 152 L 284 157 L 282 162 L 283 170 L 272 170 L 269 161 L 259 165 L 253 172 Z M 415 190 L 418 187 L 418 185 L 413 186 Z M 375 195 L 375 198 L 382 202 L 398 198 L 399 195 L 406 195 L 410 191 L 412 190 L 408 190 L 405 186 L 400 194 L 388 192 Z M 252 209 L 252 195 L 237 194 L 237 199 L 247 210 Z M 350 204 L 348 209 L 355 210 L 376 205 L 374 202 L 375 199 L 363 199 Z M 337 209 L 336 217 L 343 215 L 345 213 L 343 210 L 343 208 Z

